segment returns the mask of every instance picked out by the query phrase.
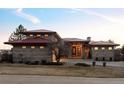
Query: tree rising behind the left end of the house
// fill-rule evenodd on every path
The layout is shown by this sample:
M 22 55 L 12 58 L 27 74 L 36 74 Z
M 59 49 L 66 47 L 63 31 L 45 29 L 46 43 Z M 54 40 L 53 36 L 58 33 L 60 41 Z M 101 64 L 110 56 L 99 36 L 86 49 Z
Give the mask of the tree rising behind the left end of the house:
M 26 38 L 25 35 L 21 34 L 21 32 L 25 32 L 26 29 L 24 28 L 23 25 L 19 25 L 18 28 L 16 28 L 16 31 L 14 31 L 10 38 L 9 41 L 16 41 L 16 40 L 23 40 Z

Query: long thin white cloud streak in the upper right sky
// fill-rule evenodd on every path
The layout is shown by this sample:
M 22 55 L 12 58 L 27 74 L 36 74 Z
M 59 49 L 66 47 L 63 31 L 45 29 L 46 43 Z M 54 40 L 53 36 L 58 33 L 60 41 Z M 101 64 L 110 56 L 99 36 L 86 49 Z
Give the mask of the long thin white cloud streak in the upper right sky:
M 83 12 L 83 13 L 86 13 L 88 15 L 93 15 L 93 16 L 97 16 L 97 17 L 100 17 L 102 19 L 105 19 L 109 22 L 117 22 L 117 19 L 113 18 L 113 17 L 110 17 L 110 16 L 106 16 L 106 15 L 103 15 L 101 13 L 98 13 L 98 12 L 94 12 L 94 11 L 90 11 L 88 9 L 79 9 L 79 8 L 75 8 L 75 9 L 72 9 L 73 11 L 78 11 L 78 12 Z

